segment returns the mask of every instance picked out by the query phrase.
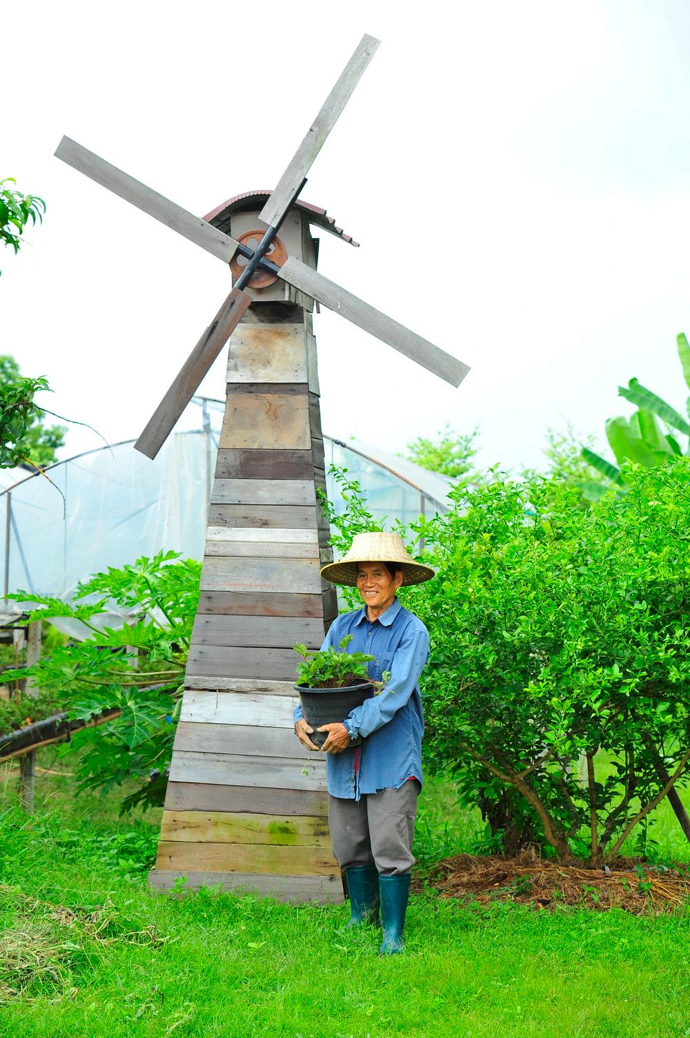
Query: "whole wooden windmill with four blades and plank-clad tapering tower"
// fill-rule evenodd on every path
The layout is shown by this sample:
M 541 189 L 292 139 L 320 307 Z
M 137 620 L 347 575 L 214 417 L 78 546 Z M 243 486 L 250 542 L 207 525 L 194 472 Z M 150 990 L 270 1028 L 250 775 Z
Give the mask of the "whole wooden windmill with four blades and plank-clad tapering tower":
M 326 821 L 325 761 L 295 739 L 295 654 L 336 614 L 315 489 L 325 490 L 313 300 L 457 386 L 466 364 L 316 273 L 310 225 L 342 233 L 298 200 L 306 174 L 368 65 L 364 36 L 275 191 L 200 219 L 63 137 L 56 155 L 224 263 L 232 291 L 136 447 L 154 458 L 228 338 L 227 405 L 201 598 L 153 885 L 185 876 L 294 901 L 340 901 Z M 252 304 L 253 305 L 250 305 Z

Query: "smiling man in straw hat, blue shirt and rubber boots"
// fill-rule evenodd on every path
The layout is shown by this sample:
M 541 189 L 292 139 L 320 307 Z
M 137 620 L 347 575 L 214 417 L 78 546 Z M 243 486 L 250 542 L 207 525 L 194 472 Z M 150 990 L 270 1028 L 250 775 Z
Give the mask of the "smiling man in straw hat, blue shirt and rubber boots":
M 417 796 L 421 789 L 421 739 L 424 721 L 419 676 L 429 659 L 429 632 L 396 598 L 405 584 L 435 576 L 416 563 L 398 534 L 357 534 L 338 563 L 322 569 L 333 583 L 357 588 L 361 609 L 335 620 L 322 648 L 337 648 L 346 634 L 349 652 L 375 659 L 369 677 L 385 687 L 353 710 L 342 723 L 324 725 L 328 754 L 328 824 L 333 851 L 348 881 L 349 926 L 378 919 L 381 953 L 403 949 L 403 928 L 410 894 L 410 870 Z M 295 732 L 307 749 L 313 729 L 301 707 L 295 709 Z M 352 742 L 363 738 L 361 745 Z

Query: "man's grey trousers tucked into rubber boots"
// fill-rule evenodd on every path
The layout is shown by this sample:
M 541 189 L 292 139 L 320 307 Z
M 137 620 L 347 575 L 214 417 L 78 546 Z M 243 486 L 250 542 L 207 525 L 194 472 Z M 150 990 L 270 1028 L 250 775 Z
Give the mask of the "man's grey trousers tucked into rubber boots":
M 401 876 L 415 863 L 412 853 L 419 783 L 365 793 L 360 800 L 328 796 L 328 827 L 341 869 L 376 865 L 382 876 Z

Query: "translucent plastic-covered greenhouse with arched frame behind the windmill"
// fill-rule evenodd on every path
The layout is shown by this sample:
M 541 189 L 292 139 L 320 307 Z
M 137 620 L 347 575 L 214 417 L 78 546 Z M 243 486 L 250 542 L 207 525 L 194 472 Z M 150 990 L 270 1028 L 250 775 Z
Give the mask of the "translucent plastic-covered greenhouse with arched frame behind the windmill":
M 3 593 L 68 598 L 91 573 L 161 549 L 201 558 L 206 507 L 224 405 L 195 397 L 155 461 L 134 440 L 61 461 L 48 479 L 2 472 L 0 573 Z M 375 518 L 403 522 L 447 507 L 451 481 L 359 441 L 325 436 L 328 493 L 342 506 L 328 468 L 347 468 Z

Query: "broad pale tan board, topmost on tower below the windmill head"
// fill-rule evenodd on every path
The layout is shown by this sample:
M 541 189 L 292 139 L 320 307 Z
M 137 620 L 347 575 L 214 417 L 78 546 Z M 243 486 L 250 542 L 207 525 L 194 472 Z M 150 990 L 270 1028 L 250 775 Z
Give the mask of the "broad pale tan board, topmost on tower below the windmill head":
M 308 382 L 303 324 L 240 325 L 230 339 L 227 381 Z

